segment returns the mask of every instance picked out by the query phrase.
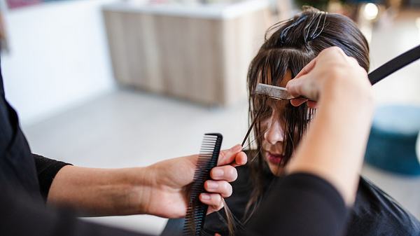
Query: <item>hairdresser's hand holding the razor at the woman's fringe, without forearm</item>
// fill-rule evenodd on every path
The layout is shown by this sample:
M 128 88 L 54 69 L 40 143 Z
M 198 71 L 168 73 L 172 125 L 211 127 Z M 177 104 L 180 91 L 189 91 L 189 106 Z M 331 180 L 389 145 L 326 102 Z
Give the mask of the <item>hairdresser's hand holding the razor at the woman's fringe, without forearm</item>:
M 339 86 L 337 86 L 339 85 Z M 339 96 L 341 88 L 357 88 L 366 90 L 370 88 L 366 71 L 360 67 L 356 59 L 347 56 L 341 48 L 326 48 L 311 60 L 300 72 L 286 85 L 288 92 L 294 97 L 304 96 L 308 99 L 292 99 L 293 106 L 300 106 L 307 102 L 308 106 L 315 108 L 324 92 L 332 96 Z M 346 93 L 351 90 L 346 90 Z

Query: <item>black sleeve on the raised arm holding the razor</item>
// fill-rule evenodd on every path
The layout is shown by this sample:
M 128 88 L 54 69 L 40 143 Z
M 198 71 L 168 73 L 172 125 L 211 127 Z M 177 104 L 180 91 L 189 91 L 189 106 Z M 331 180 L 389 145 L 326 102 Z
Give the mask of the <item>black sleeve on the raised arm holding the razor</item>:
M 343 235 L 348 209 L 327 181 L 311 174 L 279 179 L 241 235 Z

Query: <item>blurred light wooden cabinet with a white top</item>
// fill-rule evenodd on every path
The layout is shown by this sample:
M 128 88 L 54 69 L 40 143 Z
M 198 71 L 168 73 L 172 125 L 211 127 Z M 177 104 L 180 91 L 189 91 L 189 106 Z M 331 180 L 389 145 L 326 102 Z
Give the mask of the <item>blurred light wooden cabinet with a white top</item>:
M 246 97 L 248 65 L 269 27 L 266 1 L 104 6 L 117 81 L 207 105 Z

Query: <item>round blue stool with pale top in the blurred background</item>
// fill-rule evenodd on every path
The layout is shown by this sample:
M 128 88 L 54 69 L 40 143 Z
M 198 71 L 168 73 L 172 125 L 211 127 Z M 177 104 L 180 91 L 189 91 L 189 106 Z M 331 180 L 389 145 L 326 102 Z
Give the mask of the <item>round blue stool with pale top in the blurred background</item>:
M 365 161 L 390 172 L 420 175 L 419 131 L 419 106 L 380 107 L 374 115 Z

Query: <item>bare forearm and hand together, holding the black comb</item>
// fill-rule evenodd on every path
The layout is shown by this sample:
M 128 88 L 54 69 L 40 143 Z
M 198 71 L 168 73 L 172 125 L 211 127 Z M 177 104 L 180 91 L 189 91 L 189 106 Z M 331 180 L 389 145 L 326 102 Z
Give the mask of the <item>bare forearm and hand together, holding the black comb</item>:
M 151 214 L 180 218 L 186 215 L 188 186 L 193 182 L 198 158 L 189 155 L 126 169 L 63 167 L 52 181 L 48 203 L 76 208 L 85 216 Z M 232 193 L 228 181 L 237 178 L 232 165 L 245 163 L 240 145 L 221 151 L 218 167 L 212 169 L 209 180 L 218 187 L 207 186 L 210 198 L 203 202 L 209 205 L 209 211 L 221 209 L 221 197 Z

